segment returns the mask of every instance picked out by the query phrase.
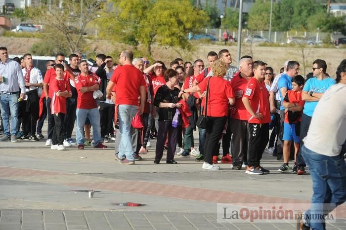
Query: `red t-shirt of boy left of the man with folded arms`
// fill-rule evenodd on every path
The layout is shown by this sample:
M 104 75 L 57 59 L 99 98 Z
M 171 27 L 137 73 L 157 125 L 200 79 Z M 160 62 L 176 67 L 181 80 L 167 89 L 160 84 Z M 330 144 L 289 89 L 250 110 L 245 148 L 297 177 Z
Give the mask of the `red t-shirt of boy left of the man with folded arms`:
M 71 93 L 70 85 L 65 79 L 56 79 L 50 81 L 49 90 L 53 92 L 53 97 L 51 98 L 51 114 L 66 114 L 66 97 L 56 96 L 57 92 L 63 92 L 67 90 Z

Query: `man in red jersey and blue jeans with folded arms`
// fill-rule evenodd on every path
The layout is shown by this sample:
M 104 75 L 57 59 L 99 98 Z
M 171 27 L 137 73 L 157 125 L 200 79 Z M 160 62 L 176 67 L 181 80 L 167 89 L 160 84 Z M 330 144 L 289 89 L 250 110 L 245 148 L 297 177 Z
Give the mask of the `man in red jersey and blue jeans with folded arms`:
M 93 97 L 93 92 L 99 89 L 99 78 L 95 74 L 88 72 L 88 65 L 86 60 L 79 63 L 81 74 L 75 77 L 75 86 L 78 92 L 77 97 L 77 129 L 76 141 L 79 150 L 84 150 L 84 125 L 86 119 L 89 118 L 92 125 L 93 147 L 98 149 L 106 149 L 101 143 L 101 126 L 100 126 L 100 113 L 98 112 L 96 99 Z

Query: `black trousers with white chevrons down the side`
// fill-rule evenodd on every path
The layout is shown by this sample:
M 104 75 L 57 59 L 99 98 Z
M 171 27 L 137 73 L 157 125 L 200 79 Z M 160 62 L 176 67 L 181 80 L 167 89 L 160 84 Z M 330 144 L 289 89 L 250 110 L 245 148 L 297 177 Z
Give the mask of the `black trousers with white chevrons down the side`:
M 248 165 L 257 167 L 269 140 L 269 124 L 249 123 L 249 133 Z

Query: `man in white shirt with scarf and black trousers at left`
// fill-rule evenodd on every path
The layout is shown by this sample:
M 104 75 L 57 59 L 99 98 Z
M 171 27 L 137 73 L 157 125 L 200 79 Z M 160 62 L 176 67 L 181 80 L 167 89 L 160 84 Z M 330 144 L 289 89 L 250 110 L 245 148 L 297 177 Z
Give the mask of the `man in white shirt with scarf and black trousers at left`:
M 40 118 L 40 98 L 37 90 L 43 85 L 43 77 L 41 70 L 33 67 L 33 58 L 31 54 L 26 53 L 23 57 L 26 66 L 22 69 L 26 94 L 24 99 L 25 111 L 23 115 L 23 137 L 25 139 L 29 138 L 32 141 L 39 141 L 36 137 L 36 124 Z M 31 137 L 29 137 L 29 134 Z

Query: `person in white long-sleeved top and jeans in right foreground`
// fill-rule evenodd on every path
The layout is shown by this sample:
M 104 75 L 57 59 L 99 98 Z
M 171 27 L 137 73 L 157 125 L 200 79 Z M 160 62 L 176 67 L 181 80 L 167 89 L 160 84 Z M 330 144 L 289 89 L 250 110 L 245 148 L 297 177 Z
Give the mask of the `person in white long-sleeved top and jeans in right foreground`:
M 313 195 L 300 229 L 325 229 L 324 220 L 308 218 L 328 214 L 346 201 L 346 163 L 341 154 L 346 141 L 346 59 L 338 67 L 336 82 L 319 100 L 303 139 L 301 153 L 309 166 Z

